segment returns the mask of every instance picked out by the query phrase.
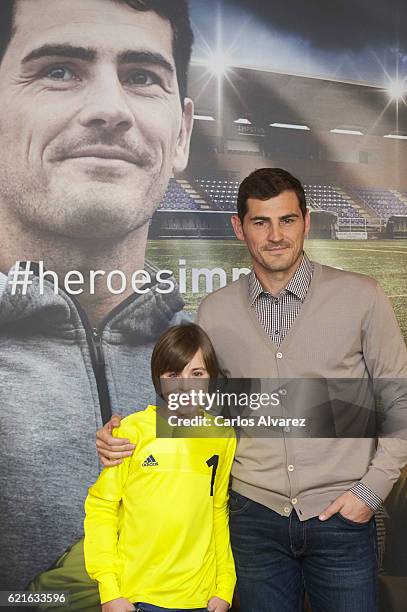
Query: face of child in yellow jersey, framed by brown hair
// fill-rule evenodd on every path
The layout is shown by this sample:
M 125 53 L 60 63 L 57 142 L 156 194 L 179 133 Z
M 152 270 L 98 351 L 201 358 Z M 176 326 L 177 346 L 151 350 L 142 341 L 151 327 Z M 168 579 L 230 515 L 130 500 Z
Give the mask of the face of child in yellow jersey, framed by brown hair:
M 209 373 L 206 369 L 205 361 L 202 355 L 202 350 L 199 349 L 187 363 L 182 372 L 165 372 L 161 375 L 161 390 L 163 396 L 168 400 L 168 396 L 174 397 L 176 394 L 185 398 L 191 396 L 191 400 L 187 405 L 181 405 L 177 408 L 177 414 L 181 416 L 190 416 L 199 412 L 199 405 L 196 404 L 197 394 L 199 391 L 206 392 L 208 389 Z M 195 395 L 192 395 L 195 391 Z M 181 398 L 180 398 L 181 399 Z M 182 402 L 184 404 L 185 401 Z

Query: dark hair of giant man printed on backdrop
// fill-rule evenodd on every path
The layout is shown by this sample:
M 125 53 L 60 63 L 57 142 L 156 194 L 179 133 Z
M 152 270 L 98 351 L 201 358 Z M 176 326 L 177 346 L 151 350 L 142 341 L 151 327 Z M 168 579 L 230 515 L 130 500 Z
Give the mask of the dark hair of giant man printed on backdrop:
M 0 0 L 0 63 L 15 32 L 14 11 L 17 2 L 18 0 Z M 178 87 L 183 104 L 187 95 L 188 66 L 194 40 L 189 19 L 188 0 L 109 0 L 109 2 L 127 4 L 136 11 L 153 11 L 170 22 Z

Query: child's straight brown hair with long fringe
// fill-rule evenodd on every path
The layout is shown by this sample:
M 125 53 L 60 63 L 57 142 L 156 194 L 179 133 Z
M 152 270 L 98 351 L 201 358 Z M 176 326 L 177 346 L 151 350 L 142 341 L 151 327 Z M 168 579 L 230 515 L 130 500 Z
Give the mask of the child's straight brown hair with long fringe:
M 222 376 L 212 342 L 199 325 L 174 325 L 159 337 L 151 356 L 151 378 L 158 395 L 161 395 L 160 376 L 167 372 L 181 373 L 199 349 L 210 378 Z

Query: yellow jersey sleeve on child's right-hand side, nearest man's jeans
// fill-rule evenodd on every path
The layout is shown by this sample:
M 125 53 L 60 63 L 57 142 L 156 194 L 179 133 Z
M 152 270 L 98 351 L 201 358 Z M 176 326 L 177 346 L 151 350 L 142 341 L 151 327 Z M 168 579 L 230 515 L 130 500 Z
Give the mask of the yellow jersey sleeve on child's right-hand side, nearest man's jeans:
M 213 529 L 216 551 L 216 592 L 213 596 L 220 597 L 232 604 L 233 591 L 236 584 L 235 564 L 229 535 L 229 480 L 230 470 L 236 450 L 235 432 L 231 430 L 227 440 L 223 461 L 219 466 L 219 478 L 215 481 Z

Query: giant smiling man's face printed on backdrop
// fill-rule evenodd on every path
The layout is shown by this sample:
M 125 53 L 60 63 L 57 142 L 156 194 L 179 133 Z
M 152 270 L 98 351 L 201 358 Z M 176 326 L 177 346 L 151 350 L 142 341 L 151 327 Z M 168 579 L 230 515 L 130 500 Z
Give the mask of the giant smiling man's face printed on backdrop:
M 187 163 L 172 29 L 110 0 L 19 0 L 0 66 L 0 209 L 71 238 L 144 225 Z

